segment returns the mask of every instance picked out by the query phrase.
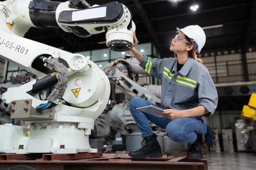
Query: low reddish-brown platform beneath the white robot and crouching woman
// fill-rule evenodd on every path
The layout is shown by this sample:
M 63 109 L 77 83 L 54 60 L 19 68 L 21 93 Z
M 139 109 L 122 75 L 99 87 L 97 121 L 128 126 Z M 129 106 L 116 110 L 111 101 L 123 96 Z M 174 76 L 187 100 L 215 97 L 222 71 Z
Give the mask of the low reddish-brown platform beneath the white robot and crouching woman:
M 35 157 L 30 154 L 26 156 L 24 156 L 25 154 L 4 154 L 0 155 L 0 157 L 7 158 L 7 160 L 0 160 L 0 170 L 16 168 L 36 170 L 208 170 L 206 159 L 191 160 L 186 159 L 186 157 L 177 157 L 174 159 L 167 157 L 134 159 L 131 157 L 97 157 L 95 154 L 94 156 L 96 158 L 81 159 L 85 156 L 83 154 L 91 153 L 52 154 L 51 160 L 49 160 L 49 157 L 43 159 L 44 154 L 42 154 L 41 159 L 36 160 L 34 160 Z M 92 157 L 92 155 L 89 156 Z M 28 160 L 20 160 L 22 157 Z M 18 158 L 18 160 L 14 158 Z

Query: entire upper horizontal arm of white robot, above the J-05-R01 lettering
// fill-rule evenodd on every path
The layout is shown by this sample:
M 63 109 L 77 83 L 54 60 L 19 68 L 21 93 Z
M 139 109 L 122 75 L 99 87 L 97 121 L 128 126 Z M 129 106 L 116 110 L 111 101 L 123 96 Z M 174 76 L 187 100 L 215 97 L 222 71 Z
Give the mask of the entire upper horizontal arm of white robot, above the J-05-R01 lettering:
M 111 50 L 130 50 L 135 24 L 130 10 L 124 4 L 110 2 L 77 9 L 78 4 L 74 0 L 70 2 L 8 0 L 0 2 L 0 10 L 5 13 L 6 23 L 12 32 L 22 37 L 30 27 L 60 27 L 80 37 L 107 31 L 106 45 Z

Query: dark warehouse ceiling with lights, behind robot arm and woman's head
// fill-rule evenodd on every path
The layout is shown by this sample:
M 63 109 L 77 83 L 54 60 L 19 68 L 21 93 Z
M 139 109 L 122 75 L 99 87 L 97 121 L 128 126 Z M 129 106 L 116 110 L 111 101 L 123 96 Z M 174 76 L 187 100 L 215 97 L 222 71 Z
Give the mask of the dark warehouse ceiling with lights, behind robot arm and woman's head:
M 65 2 L 65 1 L 63 1 Z M 87 0 L 106 4 L 112 0 Z M 153 42 L 162 57 L 169 50 L 176 27 L 198 24 L 204 28 L 207 41 L 204 52 L 254 50 L 256 46 L 256 0 L 120 0 L 132 11 L 139 43 Z M 190 9 L 198 4 L 197 11 Z M 70 52 L 107 48 L 106 33 L 80 38 L 61 29 L 31 28 L 26 38 Z

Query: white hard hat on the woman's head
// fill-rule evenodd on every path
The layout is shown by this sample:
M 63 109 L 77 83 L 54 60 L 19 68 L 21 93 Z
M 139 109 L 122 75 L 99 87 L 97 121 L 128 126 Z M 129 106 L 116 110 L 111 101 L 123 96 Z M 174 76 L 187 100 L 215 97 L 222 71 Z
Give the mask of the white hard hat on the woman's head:
M 195 52 L 200 53 L 206 41 L 204 30 L 198 25 L 189 25 L 183 29 L 176 29 L 184 33 L 191 40 Z

